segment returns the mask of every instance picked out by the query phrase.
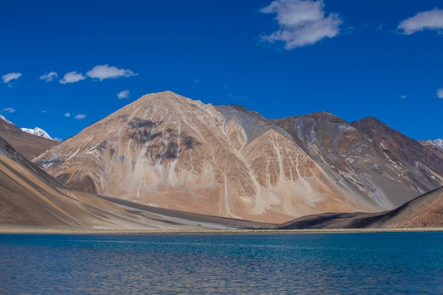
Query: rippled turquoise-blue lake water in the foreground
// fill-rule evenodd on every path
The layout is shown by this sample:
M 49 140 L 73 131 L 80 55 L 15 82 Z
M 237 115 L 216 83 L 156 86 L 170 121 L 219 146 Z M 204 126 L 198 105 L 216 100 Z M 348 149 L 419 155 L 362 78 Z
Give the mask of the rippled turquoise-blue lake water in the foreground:
M 0 294 L 443 294 L 443 233 L 0 234 Z

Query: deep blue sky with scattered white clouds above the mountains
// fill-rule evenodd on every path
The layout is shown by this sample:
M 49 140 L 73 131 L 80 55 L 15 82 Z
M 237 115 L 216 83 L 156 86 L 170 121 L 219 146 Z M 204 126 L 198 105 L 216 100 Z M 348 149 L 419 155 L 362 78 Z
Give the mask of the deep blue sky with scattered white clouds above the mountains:
M 0 28 L 0 115 L 59 139 L 166 90 L 443 138 L 441 0 L 16 0 Z

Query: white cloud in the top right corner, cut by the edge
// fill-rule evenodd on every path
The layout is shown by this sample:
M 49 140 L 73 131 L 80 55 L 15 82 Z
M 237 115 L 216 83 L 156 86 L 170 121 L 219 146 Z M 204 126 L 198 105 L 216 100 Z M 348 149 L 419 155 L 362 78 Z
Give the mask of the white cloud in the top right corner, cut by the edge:
M 405 35 L 420 32 L 420 30 L 443 30 L 443 10 L 434 8 L 422 11 L 412 18 L 406 18 L 398 24 L 398 29 Z

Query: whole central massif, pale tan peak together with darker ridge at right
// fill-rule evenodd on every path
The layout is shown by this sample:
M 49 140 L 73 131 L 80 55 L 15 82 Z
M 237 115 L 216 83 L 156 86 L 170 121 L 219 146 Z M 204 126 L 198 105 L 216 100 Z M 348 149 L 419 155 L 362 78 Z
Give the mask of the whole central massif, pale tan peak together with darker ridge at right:
M 117 110 L 35 163 L 76 190 L 275 223 L 393 209 L 442 185 L 441 153 L 423 146 L 403 155 L 364 131 L 324 112 L 267 120 L 166 91 Z

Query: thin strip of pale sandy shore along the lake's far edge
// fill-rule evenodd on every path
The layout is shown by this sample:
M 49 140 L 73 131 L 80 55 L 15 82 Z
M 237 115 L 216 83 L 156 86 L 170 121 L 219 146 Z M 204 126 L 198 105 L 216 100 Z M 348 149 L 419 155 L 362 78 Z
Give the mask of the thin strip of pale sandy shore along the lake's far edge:
M 163 230 L 163 229 L 81 229 L 0 226 L 0 233 L 42 233 L 42 234 L 286 234 L 286 233 L 390 233 L 443 231 L 443 228 L 402 228 L 402 229 L 199 229 L 199 230 Z

